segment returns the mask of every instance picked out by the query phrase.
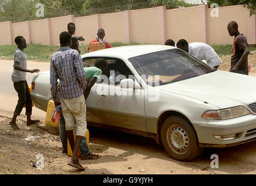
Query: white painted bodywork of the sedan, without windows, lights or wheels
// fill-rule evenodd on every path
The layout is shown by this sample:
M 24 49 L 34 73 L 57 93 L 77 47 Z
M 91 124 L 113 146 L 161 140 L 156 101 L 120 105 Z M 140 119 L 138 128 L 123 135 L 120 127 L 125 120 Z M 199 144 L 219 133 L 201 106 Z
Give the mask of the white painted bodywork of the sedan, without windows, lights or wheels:
M 150 87 L 141 80 L 136 69 L 129 62 L 129 58 L 134 56 L 173 48 L 165 45 L 135 45 L 103 49 L 82 55 L 82 58 L 103 57 L 123 60 L 141 85 L 141 88 L 136 90 L 140 91 L 141 95 L 138 96 L 108 95 L 107 98 L 99 98 L 101 92 L 97 92 L 98 88 L 109 85 L 95 84 L 86 101 L 87 106 L 94 109 L 89 120 L 159 135 L 157 126 L 159 117 L 164 112 L 176 112 L 190 121 L 197 132 L 200 144 L 218 146 L 256 138 L 256 115 L 248 106 L 248 104 L 256 102 L 255 77 L 217 70 L 176 83 Z M 42 108 L 41 99 L 49 100 L 51 98 L 51 95 L 49 95 L 49 72 L 40 73 L 37 76 L 34 78 L 36 84 L 31 97 L 35 106 Z M 37 84 L 42 87 L 38 87 Z M 126 89 L 120 89 L 120 91 L 127 91 Z M 157 102 L 150 102 L 149 100 L 152 99 L 154 94 L 158 95 L 159 99 Z M 37 101 L 38 99 L 40 101 Z M 201 117 L 207 110 L 219 110 L 239 105 L 246 107 L 251 114 L 221 121 L 205 120 Z M 113 117 L 113 124 L 111 124 L 109 118 L 105 120 L 104 117 L 101 118 L 101 115 L 97 116 L 97 109 L 101 112 L 108 110 L 111 116 L 115 116 L 115 114 L 123 115 L 123 120 L 119 118 L 118 122 L 120 123 L 115 123 Z M 129 115 L 130 117 L 137 117 L 140 124 L 137 124 L 136 120 L 134 120 L 134 124 L 127 123 Z M 249 136 L 248 131 L 254 129 L 255 134 L 252 133 L 253 135 Z M 233 133 L 240 133 L 235 140 L 220 141 L 213 137 L 216 134 L 228 135 Z

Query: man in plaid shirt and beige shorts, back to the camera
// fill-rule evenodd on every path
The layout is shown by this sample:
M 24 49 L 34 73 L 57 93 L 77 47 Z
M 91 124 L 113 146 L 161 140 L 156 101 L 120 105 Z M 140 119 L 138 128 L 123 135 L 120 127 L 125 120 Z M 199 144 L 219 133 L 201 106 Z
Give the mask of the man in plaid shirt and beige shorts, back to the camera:
M 83 60 L 72 47 L 72 37 L 68 32 L 62 32 L 59 35 L 61 48 L 55 52 L 51 58 L 50 65 L 50 84 L 51 94 L 55 106 L 62 106 L 62 113 L 66 121 L 67 139 L 69 140 L 73 156 L 70 159 L 69 166 L 80 170 L 85 168 L 81 166 L 77 158 L 77 152 L 81 141 L 87 131 L 86 123 L 86 100 L 83 92 L 86 90 L 86 75 L 83 69 Z M 57 90 L 58 81 L 61 90 L 61 101 L 58 100 Z M 74 123 L 76 119 L 76 124 Z M 74 142 L 73 130 L 77 127 L 76 142 Z

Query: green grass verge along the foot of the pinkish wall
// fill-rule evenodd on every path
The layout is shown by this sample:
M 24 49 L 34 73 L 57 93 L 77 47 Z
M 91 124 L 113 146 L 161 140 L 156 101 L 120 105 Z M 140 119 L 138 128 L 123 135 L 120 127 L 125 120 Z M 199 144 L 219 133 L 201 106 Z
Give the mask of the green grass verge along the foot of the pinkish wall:
M 127 45 L 140 45 L 137 42 L 131 42 L 129 44 L 124 44 L 122 42 L 111 42 L 112 47 L 121 47 Z M 221 56 L 230 56 L 232 45 L 211 45 L 215 52 Z M 17 49 L 16 45 L 3 45 L 0 46 L 0 59 L 13 60 L 14 53 Z M 45 46 L 40 44 L 27 45 L 24 52 L 27 55 L 27 60 L 35 60 L 38 62 L 49 62 L 51 56 L 54 52 L 58 51 L 59 47 Z M 81 55 L 87 53 L 88 45 L 81 44 L 79 46 Z M 249 47 L 250 51 L 256 50 L 256 47 Z

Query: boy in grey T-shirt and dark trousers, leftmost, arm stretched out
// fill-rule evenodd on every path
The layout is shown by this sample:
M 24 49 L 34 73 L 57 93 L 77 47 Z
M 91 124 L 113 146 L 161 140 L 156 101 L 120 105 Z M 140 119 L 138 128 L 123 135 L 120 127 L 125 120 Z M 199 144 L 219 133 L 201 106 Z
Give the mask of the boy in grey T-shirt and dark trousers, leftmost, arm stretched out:
M 16 124 L 16 118 L 22 112 L 24 105 L 26 105 L 27 126 L 30 126 L 31 124 L 39 122 L 39 120 L 31 120 L 32 99 L 30 97 L 29 86 L 27 85 L 27 81 L 26 81 L 26 73 L 27 72 L 37 73 L 40 70 L 27 69 L 27 56 L 23 51 L 23 49 L 27 48 L 25 38 L 22 36 L 17 36 L 15 38 L 15 43 L 18 48 L 15 51 L 15 56 L 14 56 L 12 81 L 13 81 L 14 88 L 18 93 L 19 100 L 17 102 L 12 121 L 10 121 L 8 126 L 15 130 L 20 130 L 20 128 Z

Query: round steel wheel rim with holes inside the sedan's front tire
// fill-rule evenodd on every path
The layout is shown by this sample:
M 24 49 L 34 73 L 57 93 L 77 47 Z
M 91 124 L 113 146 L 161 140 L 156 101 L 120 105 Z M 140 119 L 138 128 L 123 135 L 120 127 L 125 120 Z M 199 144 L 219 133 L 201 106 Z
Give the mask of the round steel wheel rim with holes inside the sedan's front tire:
M 180 126 L 170 128 L 169 142 L 176 153 L 184 154 L 189 149 L 189 135 Z

